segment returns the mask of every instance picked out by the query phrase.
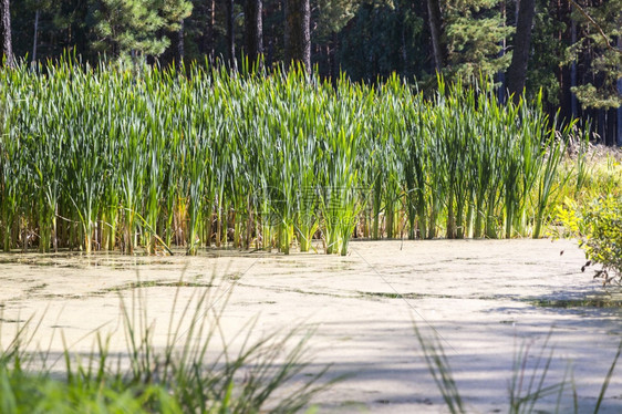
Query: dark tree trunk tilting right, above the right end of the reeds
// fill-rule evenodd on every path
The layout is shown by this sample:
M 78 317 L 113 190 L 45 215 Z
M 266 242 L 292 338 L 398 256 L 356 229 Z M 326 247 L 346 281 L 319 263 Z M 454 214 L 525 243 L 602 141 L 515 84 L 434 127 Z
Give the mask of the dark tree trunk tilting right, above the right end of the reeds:
M 506 85 L 508 93 L 514 94 L 514 102 L 520 100 L 527 79 L 527 63 L 529 62 L 529 49 L 531 45 L 531 25 L 536 13 L 536 0 L 520 0 L 518 20 L 516 22 L 516 34 L 514 40 L 514 53 L 511 63 L 506 72 Z

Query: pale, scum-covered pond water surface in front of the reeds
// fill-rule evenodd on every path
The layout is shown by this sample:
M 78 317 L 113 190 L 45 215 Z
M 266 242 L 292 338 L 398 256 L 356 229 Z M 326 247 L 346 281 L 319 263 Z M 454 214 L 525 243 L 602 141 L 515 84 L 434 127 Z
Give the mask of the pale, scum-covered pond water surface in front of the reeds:
M 164 345 L 174 307 L 179 314 L 197 291 L 210 289 L 206 312 L 221 310 L 231 351 L 241 345 L 240 330 L 259 339 L 301 324 L 314 329 L 314 363 L 304 374 L 325 364 L 333 364 L 329 377 L 354 374 L 322 394 L 320 412 L 446 412 L 415 324 L 438 338 L 468 412 L 507 412 L 516 354 L 528 351 L 530 374 L 549 335 L 548 377 L 560 381 L 572 366 L 579 410 L 593 411 L 622 340 L 622 298 L 581 272 L 585 260 L 574 242 L 354 241 L 350 250 L 346 257 L 1 253 L 1 340 L 34 314 L 41 324 L 33 349 L 37 342 L 61 352 L 62 330 L 72 351 L 89 352 L 100 329 L 111 333 L 112 352 L 124 352 L 124 298 L 146 310 L 154 341 Z M 572 404 L 570 394 L 562 401 L 560 412 Z M 619 372 L 602 405 L 601 413 L 622 412 Z

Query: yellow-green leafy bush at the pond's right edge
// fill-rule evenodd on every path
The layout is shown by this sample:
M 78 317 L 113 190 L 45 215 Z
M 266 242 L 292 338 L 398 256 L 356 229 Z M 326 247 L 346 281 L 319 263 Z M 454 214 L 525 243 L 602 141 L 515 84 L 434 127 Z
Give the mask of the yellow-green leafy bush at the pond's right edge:
M 613 195 L 601 196 L 578 207 L 566 200 L 558 208 L 558 217 L 570 232 L 579 239 L 588 262 L 602 265 L 594 278 L 602 278 L 603 284 L 622 282 L 622 198 Z

